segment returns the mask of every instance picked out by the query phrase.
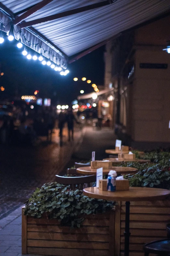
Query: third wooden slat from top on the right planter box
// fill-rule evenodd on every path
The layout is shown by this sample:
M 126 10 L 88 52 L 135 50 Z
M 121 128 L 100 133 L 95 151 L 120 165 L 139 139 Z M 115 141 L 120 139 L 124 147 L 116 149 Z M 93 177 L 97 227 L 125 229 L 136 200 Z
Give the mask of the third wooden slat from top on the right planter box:
M 125 213 L 121 213 L 121 220 L 125 220 Z M 170 215 L 169 214 L 131 213 L 130 214 L 130 220 L 170 222 Z

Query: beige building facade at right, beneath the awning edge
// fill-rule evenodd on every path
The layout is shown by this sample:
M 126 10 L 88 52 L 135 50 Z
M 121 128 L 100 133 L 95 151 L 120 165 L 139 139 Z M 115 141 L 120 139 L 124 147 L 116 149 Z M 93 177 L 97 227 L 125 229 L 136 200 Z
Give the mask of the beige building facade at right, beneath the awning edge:
M 170 16 L 106 45 L 105 87 L 113 85 L 113 120 L 141 149 L 170 145 Z

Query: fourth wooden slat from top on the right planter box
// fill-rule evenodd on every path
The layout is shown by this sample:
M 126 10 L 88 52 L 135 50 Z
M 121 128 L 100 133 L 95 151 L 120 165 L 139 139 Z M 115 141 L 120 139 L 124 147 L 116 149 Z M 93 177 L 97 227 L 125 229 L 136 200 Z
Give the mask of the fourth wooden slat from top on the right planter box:
M 121 221 L 121 228 L 125 228 L 125 221 Z M 130 229 L 166 229 L 166 222 L 130 221 Z

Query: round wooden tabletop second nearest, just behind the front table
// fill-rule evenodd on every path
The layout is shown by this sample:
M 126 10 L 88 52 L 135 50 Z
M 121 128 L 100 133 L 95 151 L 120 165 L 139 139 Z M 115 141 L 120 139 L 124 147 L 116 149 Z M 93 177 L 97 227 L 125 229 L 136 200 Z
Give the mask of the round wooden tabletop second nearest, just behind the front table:
M 129 174 L 129 173 L 137 173 L 138 169 L 133 167 L 119 167 L 112 166 L 111 169 L 103 169 L 103 174 L 108 174 L 110 170 L 114 170 L 117 174 Z M 96 175 L 97 169 L 91 169 L 90 166 L 77 168 L 77 172 L 81 174 L 87 175 Z

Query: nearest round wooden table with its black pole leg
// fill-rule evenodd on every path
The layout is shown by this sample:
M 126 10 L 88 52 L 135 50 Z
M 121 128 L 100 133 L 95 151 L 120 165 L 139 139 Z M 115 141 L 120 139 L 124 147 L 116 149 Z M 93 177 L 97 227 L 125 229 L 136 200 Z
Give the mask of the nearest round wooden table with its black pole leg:
M 130 187 L 129 190 L 126 191 L 110 192 L 101 191 L 96 187 L 91 187 L 83 189 L 83 194 L 92 198 L 109 201 L 126 201 L 124 256 L 129 256 L 130 201 L 164 200 L 170 195 L 170 190 L 160 188 Z

